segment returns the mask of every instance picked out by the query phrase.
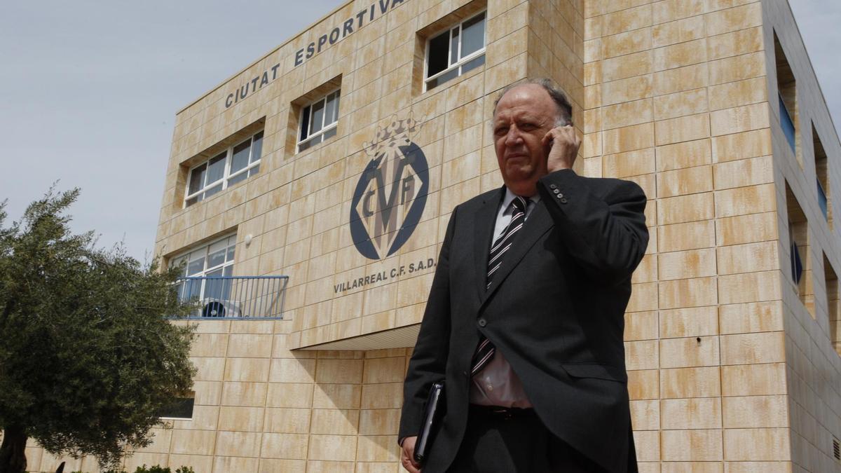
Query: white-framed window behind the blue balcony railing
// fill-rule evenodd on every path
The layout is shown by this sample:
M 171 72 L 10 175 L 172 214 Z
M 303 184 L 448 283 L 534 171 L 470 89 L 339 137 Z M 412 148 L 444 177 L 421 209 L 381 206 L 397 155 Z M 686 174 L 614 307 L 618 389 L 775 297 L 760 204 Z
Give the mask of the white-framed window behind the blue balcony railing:
M 231 280 L 221 277 L 234 274 L 235 247 L 236 235 L 230 235 L 172 258 L 173 267 L 183 266 L 182 277 L 220 278 L 181 281 L 178 283 L 178 297 L 203 301 L 229 299 Z

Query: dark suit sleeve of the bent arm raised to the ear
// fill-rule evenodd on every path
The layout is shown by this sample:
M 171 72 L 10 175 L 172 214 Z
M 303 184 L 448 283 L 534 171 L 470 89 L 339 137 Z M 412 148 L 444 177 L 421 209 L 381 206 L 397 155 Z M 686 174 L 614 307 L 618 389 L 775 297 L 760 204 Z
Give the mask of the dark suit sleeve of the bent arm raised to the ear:
M 617 284 L 648 246 L 646 198 L 637 183 L 595 181 L 563 169 L 541 178 L 537 189 L 570 256 L 591 279 Z

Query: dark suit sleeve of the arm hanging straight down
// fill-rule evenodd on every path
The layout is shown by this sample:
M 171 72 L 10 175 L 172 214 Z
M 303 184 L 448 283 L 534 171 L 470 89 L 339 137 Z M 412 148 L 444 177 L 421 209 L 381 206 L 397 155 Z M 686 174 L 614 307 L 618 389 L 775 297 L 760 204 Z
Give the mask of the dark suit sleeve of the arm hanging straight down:
M 452 210 L 447 234 L 438 256 L 429 298 L 426 300 L 421 332 L 409 361 L 403 385 L 403 411 L 400 415 L 399 442 L 417 435 L 423 422 L 424 405 L 432 383 L 443 380 L 450 343 L 449 252 L 455 232 L 456 212 Z

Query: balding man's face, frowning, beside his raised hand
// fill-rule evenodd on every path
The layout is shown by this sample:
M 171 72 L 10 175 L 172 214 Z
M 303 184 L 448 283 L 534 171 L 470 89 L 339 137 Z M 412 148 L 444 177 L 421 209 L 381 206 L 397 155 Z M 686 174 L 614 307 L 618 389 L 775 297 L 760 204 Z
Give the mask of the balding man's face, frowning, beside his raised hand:
M 514 194 L 537 193 L 537 179 L 547 174 L 549 148 L 543 136 L 555 127 L 558 109 L 537 84 L 512 88 L 494 114 L 494 147 L 505 186 Z M 551 143 L 550 143 L 551 145 Z

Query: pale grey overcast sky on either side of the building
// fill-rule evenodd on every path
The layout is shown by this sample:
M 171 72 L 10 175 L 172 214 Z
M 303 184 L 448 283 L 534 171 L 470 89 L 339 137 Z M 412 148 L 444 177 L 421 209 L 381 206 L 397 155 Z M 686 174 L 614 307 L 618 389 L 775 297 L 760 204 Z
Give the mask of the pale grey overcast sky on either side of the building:
M 178 109 L 343 0 L 0 4 L 0 201 L 9 221 L 56 189 L 82 194 L 71 228 L 146 261 Z M 841 2 L 791 0 L 841 125 Z M 834 53 L 834 54 L 833 54 Z

